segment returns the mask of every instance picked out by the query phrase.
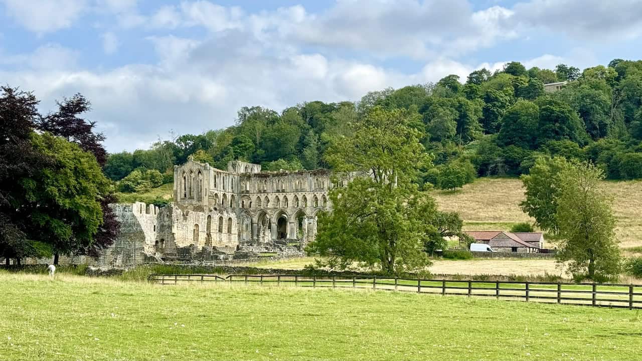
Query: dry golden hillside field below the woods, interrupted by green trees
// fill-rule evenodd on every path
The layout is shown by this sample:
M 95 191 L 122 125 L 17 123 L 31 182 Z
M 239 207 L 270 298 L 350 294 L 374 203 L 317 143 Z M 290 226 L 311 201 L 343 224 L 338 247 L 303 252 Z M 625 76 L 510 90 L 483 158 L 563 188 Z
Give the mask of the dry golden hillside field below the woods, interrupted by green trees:
M 603 185 L 613 197 L 620 247 L 627 252 L 634 247 L 642 250 L 642 181 L 605 181 Z M 507 230 L 518 222 L 534 222 L 519 208 L 524 198 L 519 179 L 485 177 L 458 191 L 433 193 L 440 209 L 458 212 L 464 228 L 471 231 Z

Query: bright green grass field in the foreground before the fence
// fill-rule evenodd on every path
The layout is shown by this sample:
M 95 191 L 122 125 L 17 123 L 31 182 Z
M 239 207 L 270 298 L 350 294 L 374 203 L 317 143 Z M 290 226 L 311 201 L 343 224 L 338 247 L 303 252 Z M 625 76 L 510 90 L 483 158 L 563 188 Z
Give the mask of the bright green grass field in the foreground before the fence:
M 367 290 L 0 274 L 2 360 L 636 360 L 642 314 Z

